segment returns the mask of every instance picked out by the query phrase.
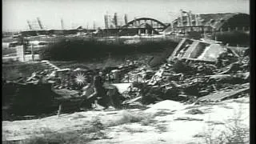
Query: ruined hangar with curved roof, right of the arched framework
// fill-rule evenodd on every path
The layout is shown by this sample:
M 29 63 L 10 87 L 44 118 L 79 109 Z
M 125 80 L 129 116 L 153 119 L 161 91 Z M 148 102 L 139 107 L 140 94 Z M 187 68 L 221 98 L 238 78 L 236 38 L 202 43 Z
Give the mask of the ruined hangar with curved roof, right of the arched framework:
M 250 30 L 250 15 L 242 13 L 191 14 L 183 11 L 169 26 L 169 31 L 224 32 Z

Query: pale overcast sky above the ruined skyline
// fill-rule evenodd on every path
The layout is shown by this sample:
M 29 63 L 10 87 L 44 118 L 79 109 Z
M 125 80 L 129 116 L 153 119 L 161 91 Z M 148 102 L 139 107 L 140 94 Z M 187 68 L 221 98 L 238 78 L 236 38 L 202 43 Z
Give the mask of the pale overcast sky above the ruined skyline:
M 194 14 L 242 12 L 249 14 L 249 0 L 2 0 L 2 30 L 26 30 L 26 20 L 40 18 L 46 29 L 75 26 L 104 26 L 104 14 L 128 14 L 149 17 L 161 22 L 177 18 L 179 10 Z

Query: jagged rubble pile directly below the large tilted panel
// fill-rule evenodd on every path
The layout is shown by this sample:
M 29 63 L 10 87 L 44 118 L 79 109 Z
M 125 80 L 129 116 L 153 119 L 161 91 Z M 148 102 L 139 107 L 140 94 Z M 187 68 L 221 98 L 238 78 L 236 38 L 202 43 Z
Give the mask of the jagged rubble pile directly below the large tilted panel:
M 198 98 L 218 91 L 224 93 L 226 90 L 244 89 L 240 85 L 250 81 L 248 54 L 236 54 L 234 50 L 226 50 L 224 46 L 223 49 L 225 50 L 218 54 L 216 62 L 170 57 L 150 80 L 144 78 L 135 81 L 133 87 L 137 90 L 130 88 L 127 94 L 142 97 L 137 100 L 150 104 L 165 99 L 195 102 Z M 237 51 L 241 50 L 237 48 Z M 133 71 L 133 77 L 136 78 L 135 72 L 141 75 L 145 71 L 144 67 L 138 68 L 138 71 Z M 222 97 L 224 96 L 225 94 Z

